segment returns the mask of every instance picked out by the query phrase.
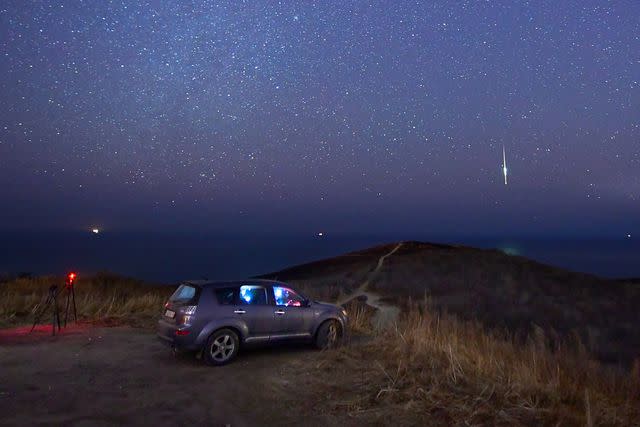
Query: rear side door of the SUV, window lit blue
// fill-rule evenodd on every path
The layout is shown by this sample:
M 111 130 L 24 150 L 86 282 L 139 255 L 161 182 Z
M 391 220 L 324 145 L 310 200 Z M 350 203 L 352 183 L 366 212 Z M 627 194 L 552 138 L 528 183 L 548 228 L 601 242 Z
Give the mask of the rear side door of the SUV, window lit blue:
M 239 287 L 234 314 L 247 325 L 246 341 L 266 341 L 277 329 L 270 293 L 271 289 L 262 285 Z

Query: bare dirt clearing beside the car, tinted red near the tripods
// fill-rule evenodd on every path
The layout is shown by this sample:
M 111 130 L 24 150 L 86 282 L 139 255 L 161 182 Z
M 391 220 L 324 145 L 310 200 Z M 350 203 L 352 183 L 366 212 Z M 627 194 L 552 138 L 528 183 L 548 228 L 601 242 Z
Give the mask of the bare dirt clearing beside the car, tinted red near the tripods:
M 323 396 L 305 384 L 322 354 L 307 345 L 208 367 L 145 329 L 28 329 L 0 330 L 0 425 L 351 424 L 314 410 Z

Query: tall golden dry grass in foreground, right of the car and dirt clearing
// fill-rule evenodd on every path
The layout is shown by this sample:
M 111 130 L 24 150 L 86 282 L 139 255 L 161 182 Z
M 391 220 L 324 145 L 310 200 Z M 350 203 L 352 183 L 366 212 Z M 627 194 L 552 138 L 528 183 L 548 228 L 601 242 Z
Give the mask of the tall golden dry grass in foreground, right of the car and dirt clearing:
M 321 410 L 418 425 L 640 425 L 640 362 L 603 367 L 579 342 L 550 351 L 414 305 L 396 328 L 325 353 Z M 327 385 L 323 379 L 333 378 Z

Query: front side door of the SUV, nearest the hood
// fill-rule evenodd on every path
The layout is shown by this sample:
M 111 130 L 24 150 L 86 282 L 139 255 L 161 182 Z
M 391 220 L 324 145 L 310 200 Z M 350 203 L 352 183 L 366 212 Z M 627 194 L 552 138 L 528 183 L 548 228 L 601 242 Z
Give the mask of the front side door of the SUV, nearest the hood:
M 308 310 L 306 299 L 293 289 L 280 285 L 273 286 L 273 296 L 276 332 L 272 339 L 310 336 L 308 316 L 305 316 Z

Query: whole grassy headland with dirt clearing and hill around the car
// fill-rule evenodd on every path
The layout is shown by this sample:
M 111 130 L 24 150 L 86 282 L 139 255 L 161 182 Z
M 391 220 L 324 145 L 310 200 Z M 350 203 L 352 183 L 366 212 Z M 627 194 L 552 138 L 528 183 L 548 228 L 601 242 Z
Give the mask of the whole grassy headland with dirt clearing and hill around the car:
M 33 335 L 29 330 L 34 307 L 62 278 L 3 284 L 0 413 L 8 414 L 10 425 L 135 424 L 140 404 L 170 422 L 196 424 L 639 425 L 640 359 L 631 367 L 602 364 L 584 346 L 561 339 L 573 329 L 588 337 L 593 328 L 612 339 L 612 328 L 621 328 L 613 359 L 630 357 L 637 336 L 620 325 L 637 303 L 636 285 L 498 251 L 420 242 L 266 276 L 297 283 L 313 298 L 345 303 L 346 345 L 323 352 L 243 350 L 237 363 L 210 369 L 191 358 L 172 359 L 154 337 L 172 287 L 111 274 L 83 277 L 77 284 L 80 324 L 51 337 L 48 324 Z M 395 315 L 392 327 L 377 327 L 372 317 L 385 310 Z M 123 324 L 137 327 L 112 328 Z M 557 338 L 550 340 L 549 331 L 558 331 Z M 172 374 L 158 378 L 167 369 Z M 187 406 L 179 399 L 167 412 L 166 396 L 184 392 L 180 378 L 190 378 L 191 388 L 208 398 L 189 398 Z M 217 385 L 221 379 L 225 390 Z M 248 382 L 255 387 L 243 386 Z M 25 384 L 28 393 L 14 393 Z M 67 400 L 50 399 L 51 384 Z M 148 392 L 149 384 L 156 392 Z M 34 401 L 43 404 L 34 409 Z

